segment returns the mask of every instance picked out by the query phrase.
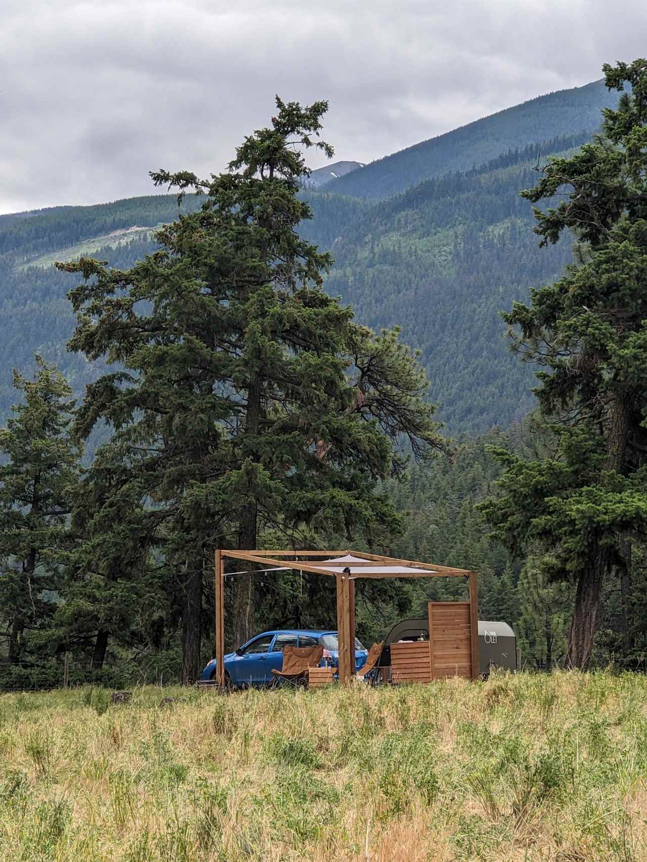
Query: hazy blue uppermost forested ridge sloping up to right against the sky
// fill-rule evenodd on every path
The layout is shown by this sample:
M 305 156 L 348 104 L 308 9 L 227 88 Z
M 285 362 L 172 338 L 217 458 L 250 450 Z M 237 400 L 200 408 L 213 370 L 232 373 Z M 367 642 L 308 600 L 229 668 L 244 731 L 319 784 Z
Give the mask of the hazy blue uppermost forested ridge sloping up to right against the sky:
M 600 127 L 600 109 L 617 102 L 618 93 L 606 91 L 601 80 L 549 93 L 385 156 L 325 188 L 355 197 L 388 197 L 424 179 L 482 166 L 515 147 L 593 133 Z

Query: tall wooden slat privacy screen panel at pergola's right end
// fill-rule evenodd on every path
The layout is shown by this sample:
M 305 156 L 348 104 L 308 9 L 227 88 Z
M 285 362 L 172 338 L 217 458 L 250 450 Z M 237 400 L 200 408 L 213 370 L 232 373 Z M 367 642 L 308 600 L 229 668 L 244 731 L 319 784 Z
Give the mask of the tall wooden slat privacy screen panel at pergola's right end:
M 432 679 L 474 678 L 473 633 L 469 605 L 469 602 L 429 603 Z

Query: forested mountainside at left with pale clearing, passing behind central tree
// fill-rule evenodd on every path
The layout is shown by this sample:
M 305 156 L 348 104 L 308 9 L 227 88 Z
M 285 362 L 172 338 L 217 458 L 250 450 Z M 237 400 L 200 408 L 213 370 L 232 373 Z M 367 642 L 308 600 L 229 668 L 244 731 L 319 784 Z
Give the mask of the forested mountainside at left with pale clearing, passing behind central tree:
M 308 196 L 316 199 L 317 217 L 307 230 L 323 247 L 330 247 L 366 207 L 339 195 L 309 191 Z M 154 251 L 150 234 L 156 225 L 200 203 L 200 198 L 186 196 L 178 209 L 176 195 L 155 195 L 0 216 L 0 419 L 16 394 L 11 369 L 28 372 L 34 353 L 56 362 L 79 393 L 104 371 L 103 365 L 66 353 L 74 326 L 66 293 L 76 279 L 56 270 L 53 260 L 89 254 L 126 269 Z

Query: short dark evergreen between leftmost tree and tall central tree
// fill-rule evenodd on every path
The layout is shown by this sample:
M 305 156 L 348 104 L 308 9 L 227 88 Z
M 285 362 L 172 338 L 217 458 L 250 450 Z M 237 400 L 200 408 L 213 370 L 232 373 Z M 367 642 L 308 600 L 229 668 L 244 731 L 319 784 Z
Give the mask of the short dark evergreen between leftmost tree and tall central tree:
M 93 670 L 110 646 L 161 647 L 178 621 L 169 601 L 179 605 L 179 584 L 160 559 L 166 512 L 150 505 L 149 484 L 137 475 L 143 465 L 130 456 L 116 440 L 99 447 L 72 506 L 64 601 L 51 637 L 87 655 Z

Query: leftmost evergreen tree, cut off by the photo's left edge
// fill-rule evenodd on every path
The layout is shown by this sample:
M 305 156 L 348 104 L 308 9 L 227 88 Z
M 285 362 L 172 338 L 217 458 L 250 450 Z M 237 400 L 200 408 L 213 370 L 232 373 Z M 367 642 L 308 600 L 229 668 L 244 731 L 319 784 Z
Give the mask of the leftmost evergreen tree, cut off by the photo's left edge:
M 51 624 L 79 474 L 79 451 L 69 438 L 72 390 L 53 365 L 39 356 L 35 362 L 32 380 L 14 371 L 23 400 L 0 430 L 6 459 L 0 466 L 0 606 L 11 664 Z

